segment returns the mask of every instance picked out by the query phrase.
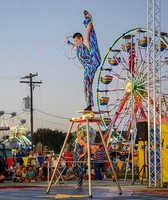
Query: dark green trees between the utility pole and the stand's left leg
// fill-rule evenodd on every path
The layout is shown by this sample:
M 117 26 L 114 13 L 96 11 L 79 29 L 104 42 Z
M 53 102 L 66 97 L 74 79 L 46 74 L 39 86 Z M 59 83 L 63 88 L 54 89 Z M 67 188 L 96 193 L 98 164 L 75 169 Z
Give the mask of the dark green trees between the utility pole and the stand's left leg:
M 50 150 L 54 150 L 55 153 L 59 153 L 64 143 L 66 134 L 67 133 L 58 129 L 37 129 L 37 131 L 33 134 L 33 144 L 36 145 L 38 142 L 41 142 L 43 146 L 48 146 Z

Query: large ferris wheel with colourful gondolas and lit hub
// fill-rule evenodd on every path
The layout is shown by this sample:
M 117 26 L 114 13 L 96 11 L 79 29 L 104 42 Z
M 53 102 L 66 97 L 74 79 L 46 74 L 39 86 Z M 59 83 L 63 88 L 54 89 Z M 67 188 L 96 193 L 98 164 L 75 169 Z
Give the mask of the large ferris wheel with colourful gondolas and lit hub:
M 168 72 L 167 36 L 167 33 L 161 34 L 160 46 L 156 47 L 161 52 L 161 77 Z M 125 139 L 129 138 L 136 122 L 148 116 L 147 46 L 150 42 L 144 28 L 127 31 L 108 49 L 100 68 L 97 105 L 99 111 L 106 111 L 101 112 L 102 126 L 105 130 L 119 130 Z M 162 83 L 162 80 L 156 81 Z M 168 94 L 165 82 L 161 85 L 162 116 L 167 116 Z M 153 102 L 152 97 L 150 102 Z

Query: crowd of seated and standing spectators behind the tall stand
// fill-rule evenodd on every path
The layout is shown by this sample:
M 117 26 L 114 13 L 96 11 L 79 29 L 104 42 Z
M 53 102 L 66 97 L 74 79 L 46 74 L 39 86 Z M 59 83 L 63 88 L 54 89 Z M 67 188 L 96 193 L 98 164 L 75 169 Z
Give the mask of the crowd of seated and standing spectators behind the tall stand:
M 125 160 L 123 155 L 116 154 L 114 152 L 110 153 L 110 157 L 115 169 L 117 167 L 117 163 L 120 163 L 120 161 L 123 163 Z M 99 145 L 94 154 L 91 152 L 90 158 L 91 178 L 99 180 L 105 179 L 107 177 L 107 169 L 110 166 L 102 144 Z M 23 149 L 20 148 L 13 156 L 11 165 L 5 170 L 3 175 L 5 180 L 11 180 L 13 182 L 25 181 L 33 183 L 36 181 L 49 181 L 55 168 L 55 162 L 57 161 L 58 155 L 54 153 L 38 155 L 38 153 L 30 151 L 27 155 Z M 67 145 L 63 152 L 57 172 L 63 172 L 63 180 L 76 179 L 78 182 L 77 188 L 82 188 L 83 179 L 88 179 L 87 154 L 85 159 L 77 161 L 75 160 L 74 149 L 71 151 L 70 146 Z M 56 181 L 57 178 L 58 174 L 55 175 L 53 181 Z

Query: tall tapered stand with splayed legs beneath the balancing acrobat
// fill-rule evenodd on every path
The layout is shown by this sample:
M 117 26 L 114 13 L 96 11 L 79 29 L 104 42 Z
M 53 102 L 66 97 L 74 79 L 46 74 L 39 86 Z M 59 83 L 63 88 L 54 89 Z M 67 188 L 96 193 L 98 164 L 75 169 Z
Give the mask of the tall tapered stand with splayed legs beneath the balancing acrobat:
M 121 195 L 121 194 L 122 194 L 122 190 L 121 190 L 121 187 L 120 187 L 120 184 L 119 184 L 119 181 L 118 181 L 116 172 L 115 172 L 115 170 L 114 170 L 112 161 L 111 161 L 111 159 L 110 159 L 110 155 L 109 155 L 109 152 L 108 152 L 108 150 L 107 150 L 107 146 L 106 146 L 105 140 L 104 140 L 104 138 L 103 138 L 103 133 L 102 133 L 101 128 L 100 128 L 101 119 L 97 119 L 97 118 L 94 118 L 94 117 L 85 117 L 85 116 L 83 115 L 82 118 L 75 118 L 75 119 L 72 118 L 70 121 L 71 121 L 71 124 L 70 124 L 69 130 L 68 130 L 68 133 L 67 133 L 67 135 L 66 135 L 64 144 L 63 144 L 63 146 L 62 146 L 61 152 L 60 152 L 60 154 L 59 154 L 58 162 L 56 162 L 56 165 L 55 165 L 55 168 L 54 168 L 54 171 L 53 171 L 51 180 L 50 180 L 50 182 L 49 182 L 49 184 L 48 184 L 48 188 L 47 188 L 47 190 L 46 190 L 46 194 L 49 194 L 49 192 L 50 192 L 50 188 L 51 188 L 51 185 L 52 185 L 52 182 L 53 182 L 55 173 L 56 173 L 56 171 L 57 171 L 57 169 L 58 169 L 58 165 L 59 165 L 60 160 L 61 160 L 61 157 L 62 157 L 62 155 L 63 155 L 63 152 L 64 152 L 64 149 L 65 149 L 67 140 L 68 140 L 68 138 L 69 138 L 69 136 L 70 136 L 70 134 L 71 134 L 72 127 L 73 127 L 74 123 L 80 123 L 80 124 L 86 124 L 86 127 L 87 127 L 87 152 L 88 152 L 88 159 L 87 159 L 87 162 L 88 162 L 88 183 L 89 183 L 88 185 L 89 185 L 89 197 L 92 197 L 89 123 L 96 123 L 96 125 L 97 125 L 97 127 L 98 127 L 98 130 L 99 130 L 99 133 L 100 133 L 100 137 L 101 137 L 101 139 L 102 139 L 102 144 L 103 144 L 103 146 L 104 146 L 104 149 L 105 149 L 105 152 L 106 152 L 108 161 L 110 162 L 110 166 L 111 166 L 112 172 L 113 172 L 114 177 L 115 177 L 115 180 L 116 180 L 116 185 L 117 185 L 117 187 L 118 187 L 119 194 Z

